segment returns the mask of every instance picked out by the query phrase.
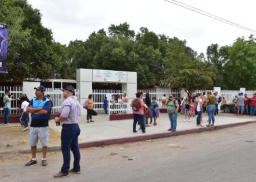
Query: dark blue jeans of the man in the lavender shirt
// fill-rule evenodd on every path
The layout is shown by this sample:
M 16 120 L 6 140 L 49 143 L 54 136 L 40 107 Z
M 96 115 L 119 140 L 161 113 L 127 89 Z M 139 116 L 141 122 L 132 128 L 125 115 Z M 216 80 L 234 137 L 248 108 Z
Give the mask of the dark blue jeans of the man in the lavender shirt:
M 74 155 L 74 171 L 80 171 L 80 151 L 78 144 L 78 136 L 80 135 L 80 128 L 78 124 L 62 125 L 62 154 L 63 165 L 61 173 L 69 173 L 70 168 L 70 149 Z

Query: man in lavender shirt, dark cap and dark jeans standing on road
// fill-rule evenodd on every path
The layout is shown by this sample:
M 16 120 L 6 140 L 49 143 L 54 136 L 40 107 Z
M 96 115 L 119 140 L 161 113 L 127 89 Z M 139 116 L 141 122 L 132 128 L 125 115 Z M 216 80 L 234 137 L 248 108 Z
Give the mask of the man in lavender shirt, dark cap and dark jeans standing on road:
M 61 148 L 64 162 L 62 169 L 59 173 L 54 175 L 54 178 L 68 177 L 69 173 L 81 173 L 81 156 L 78 144 L 78 137 L 80 135 L 78 124 L 80 104 L 72 94 L 74 92 L 72 86 L 66 86 L 62 91 L 65 98 L 62 103 L 62 113 L 60 114 L 60 117 L 56 117 L 54 121 L 56 123 L 60 122 L 60 125 L 62 125 Z M 70 150 L 74 155 L 74 166 L 72 169 L 70 169 Z

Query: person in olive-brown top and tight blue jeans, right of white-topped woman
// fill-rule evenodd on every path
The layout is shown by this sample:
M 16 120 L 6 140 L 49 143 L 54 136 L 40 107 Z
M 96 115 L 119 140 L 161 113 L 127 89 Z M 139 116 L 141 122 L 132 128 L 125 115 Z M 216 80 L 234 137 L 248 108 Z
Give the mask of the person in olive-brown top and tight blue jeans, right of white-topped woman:
M 217 98 L 213 96 L 212 92 L 207 92 L 206 102 L 207 102 L 207 114 L 209 117 L 208 119 L 209 124 L 207 125 L 207 127 L 210 127 L 210 126 L 214 126 L 214 122 L 215 122 L 214 113 L 215 113 L 215 103 L 217 102 Z

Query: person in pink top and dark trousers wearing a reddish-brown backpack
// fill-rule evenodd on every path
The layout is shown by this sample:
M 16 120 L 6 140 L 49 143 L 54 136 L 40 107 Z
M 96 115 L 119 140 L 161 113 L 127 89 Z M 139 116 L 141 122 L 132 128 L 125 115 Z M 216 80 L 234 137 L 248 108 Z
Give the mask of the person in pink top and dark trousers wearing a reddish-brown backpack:
M 144 102 L 142 100 L 143 93 L 138 92 L 136 98 L 131 102 L 133 109 L 133 133 L 137 133 L 136 124 L 140 122 L 142 133 L 146 133 L 146 127 L 144 123 Z

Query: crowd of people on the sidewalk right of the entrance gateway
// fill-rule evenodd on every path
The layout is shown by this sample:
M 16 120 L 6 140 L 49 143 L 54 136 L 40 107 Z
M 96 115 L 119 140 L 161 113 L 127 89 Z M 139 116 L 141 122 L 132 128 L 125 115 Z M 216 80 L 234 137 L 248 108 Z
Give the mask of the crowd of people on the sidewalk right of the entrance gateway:
M 218 92 L 203 92 L 198 93 L 196 96 L 188 94 L 186 98 L 179 96 L 177 100 L 171 94 L 169 98 L 166 94 L 161 98 L 162 109 L 167 109 L 169 121 L 171 124 L 169 131 L 176 131 L 177 129 L 177 117 L 178 114 L 184 115 L 184 121 L 191 122 L 190 117 L 196 117 L 196 126 L 205 127 L 203 125 L 202 113 L 207 113 L 207 125 L 206 127 L 213 127 L 215 125 L 215 117 L 219 115 L 219 104 L 226 104 L 225 97 L 221 97 Z M 243 115 L 244 112 L 249 113 L 251 116 L 255 115 L 256 110 L 256 94 L 252 98 L 248 98 L 247 94 L 240 93 L 238 97 L 234 99 L 237 107 L 237 115 L 240 112 Z M 136 94 L 136 98 L 132 100 L 130 104 L 133 110 L 133 132 L 136 133 L 137 123 L 142 129 L 142 133 L 146 133 L 146 127 L 149 127 L 152 123 L 157 125 L 157 118 L 159 117 L 159 105 L 156 102 L 156 98 L 150 98 L 150 95 L 142 92 Z M 150 119 L 150 123 L 148 122 Z

